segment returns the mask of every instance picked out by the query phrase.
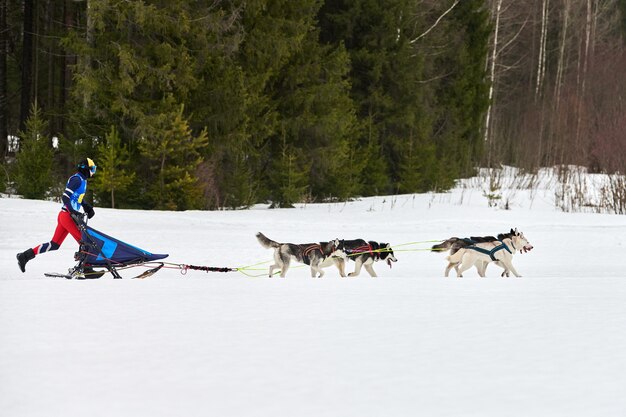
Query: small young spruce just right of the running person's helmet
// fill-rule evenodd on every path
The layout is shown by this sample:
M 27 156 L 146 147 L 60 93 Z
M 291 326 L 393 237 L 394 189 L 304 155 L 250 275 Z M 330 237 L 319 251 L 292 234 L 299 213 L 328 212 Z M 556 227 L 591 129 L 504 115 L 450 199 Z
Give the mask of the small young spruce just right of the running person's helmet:
M 115 208 L 115 193 L 124 192 L 135 179 L 135 173 L 129 167 L 130 153 L 123 145 L 115 126 L 98 145 L 98 175 L 94 178 L 93 188 L 100 200 L 108 200 Z

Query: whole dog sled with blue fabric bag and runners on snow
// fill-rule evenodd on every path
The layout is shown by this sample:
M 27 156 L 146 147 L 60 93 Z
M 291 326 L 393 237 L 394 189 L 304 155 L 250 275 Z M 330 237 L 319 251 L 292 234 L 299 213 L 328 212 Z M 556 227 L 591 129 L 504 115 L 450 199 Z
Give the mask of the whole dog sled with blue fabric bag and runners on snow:
M 74 259 L 78 262 L 67 274 L 46 273 L 53 278 L 93 279 L 100 278 L 107 272 L 113 278 L 122 278 L 118 270 L 134 266 L 150 267 L 134 278 L 147 278 L 163 268 L 162 262 L 167 254 L 150 253 L 144 249 L 122 242 L 89 227 L 83 218 L 74 217 L 81 233 L 81 241 Z

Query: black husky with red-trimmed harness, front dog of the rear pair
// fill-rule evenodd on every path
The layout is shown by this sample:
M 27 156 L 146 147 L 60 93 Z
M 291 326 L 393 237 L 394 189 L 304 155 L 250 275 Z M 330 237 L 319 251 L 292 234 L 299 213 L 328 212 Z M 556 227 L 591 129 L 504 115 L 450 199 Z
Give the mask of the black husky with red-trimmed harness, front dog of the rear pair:
M 340 240 L 339 249 L 348 259 L 356 263 L 354 272 L 350 272 L 348 274 L 349 277 L 358 276 L 361 273 L 361 267 L 365 267 L 370 276 L 376 277 L 377 275 L 373 267 L 374 262 L 383 260 L 389 265 L 389 268 L 391 268 L 392 262 L 398 262 L 389 243 L 366 242 L 363 239 Z M 334 261 L 337 268 L 339 268 L 341 276 L 345 276 L 344 258 L 335 258 Z

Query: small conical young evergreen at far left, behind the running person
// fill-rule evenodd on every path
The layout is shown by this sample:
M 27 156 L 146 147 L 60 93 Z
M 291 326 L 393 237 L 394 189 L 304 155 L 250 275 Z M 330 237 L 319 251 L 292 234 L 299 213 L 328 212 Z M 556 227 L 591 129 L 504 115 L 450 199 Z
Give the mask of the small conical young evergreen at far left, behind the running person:
M 25 130 L 20 132 L 20 150 L 16 155 L 15 187 L 24 198 L 45 198 L 54 182 L 54 153 L 46 131 L 47 123 L 35 101 Z

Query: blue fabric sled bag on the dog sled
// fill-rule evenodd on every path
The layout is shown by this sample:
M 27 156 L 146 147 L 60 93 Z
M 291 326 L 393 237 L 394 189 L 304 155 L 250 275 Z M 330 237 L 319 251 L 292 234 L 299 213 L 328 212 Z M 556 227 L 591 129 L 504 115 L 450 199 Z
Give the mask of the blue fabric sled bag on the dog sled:
M 102 232 L 87 226 L 82 231 L 82 241 L 90 248 L 85 264 L 93 266 L 106 266 L 109 263 L 115 265 L 131 265 L 136 263 L 151 262 L 167 258 L 167 254 L 150 253 L 143 249 L 124 243 L 121 240 L 107 236 Z

